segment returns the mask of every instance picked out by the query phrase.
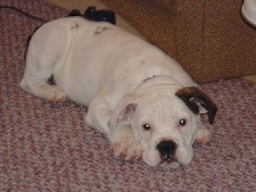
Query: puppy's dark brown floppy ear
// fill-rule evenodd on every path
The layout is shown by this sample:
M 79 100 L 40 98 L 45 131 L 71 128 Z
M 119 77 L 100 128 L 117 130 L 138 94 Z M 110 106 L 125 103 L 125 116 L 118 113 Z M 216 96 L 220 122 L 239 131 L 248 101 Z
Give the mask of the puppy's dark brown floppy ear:
M 214 103 L 203 91 L 197 87 L 185 87 L 176 92 L 184 103 L 196 115 L 204 113 L 202 108 L 206 110 L 210 124 L 214 123 L 214 117 L 217 113 L 217 104 Z

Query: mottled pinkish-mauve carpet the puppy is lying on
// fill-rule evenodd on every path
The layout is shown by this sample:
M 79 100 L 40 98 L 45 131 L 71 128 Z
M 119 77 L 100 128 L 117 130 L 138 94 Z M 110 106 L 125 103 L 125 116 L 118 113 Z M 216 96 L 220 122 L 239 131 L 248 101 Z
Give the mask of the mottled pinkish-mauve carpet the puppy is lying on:
M 8 0 L 45 20 L 67 10 L 45 1 Z M 26 40 L 37 20 L 0 10 L 0 191 L 256 191 L 256 85 L 227 80 L 200 85 L 219 106 L 210 145 L 195 145 L 191 164 L 160 169 L 113 156 L 86 125 L 86 107 L 51 104 L 22 91 Z

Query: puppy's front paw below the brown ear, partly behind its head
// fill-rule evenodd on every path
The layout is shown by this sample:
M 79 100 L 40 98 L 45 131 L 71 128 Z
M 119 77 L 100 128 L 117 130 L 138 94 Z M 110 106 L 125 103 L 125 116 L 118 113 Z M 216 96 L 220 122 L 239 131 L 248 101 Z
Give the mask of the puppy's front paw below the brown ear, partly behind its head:
M 195 143 L 208 144 L 211 142 L 211 132 L 203 126 L 200 118 L 197 118 L 197 133 L 195 135 Z

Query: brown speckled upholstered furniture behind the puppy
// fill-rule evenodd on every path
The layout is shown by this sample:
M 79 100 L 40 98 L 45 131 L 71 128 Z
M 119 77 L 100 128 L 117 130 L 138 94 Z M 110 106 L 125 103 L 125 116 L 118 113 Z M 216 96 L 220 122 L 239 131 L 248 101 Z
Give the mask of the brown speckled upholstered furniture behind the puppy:
M 102 0 L 197 82 L 256 74 L 256 30 L 242 0 Z

